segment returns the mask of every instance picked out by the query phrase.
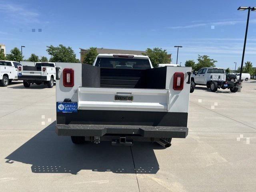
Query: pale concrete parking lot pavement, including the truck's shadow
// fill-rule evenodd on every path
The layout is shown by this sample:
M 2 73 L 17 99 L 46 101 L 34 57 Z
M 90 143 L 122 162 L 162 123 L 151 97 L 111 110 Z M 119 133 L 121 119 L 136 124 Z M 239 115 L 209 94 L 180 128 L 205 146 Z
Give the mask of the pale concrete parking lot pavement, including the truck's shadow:
M 0 87 L 0 191 L 254 192 L 256 82 L 190 95 L 186 139 L 76 146 L 57 136 L 55 86 Z

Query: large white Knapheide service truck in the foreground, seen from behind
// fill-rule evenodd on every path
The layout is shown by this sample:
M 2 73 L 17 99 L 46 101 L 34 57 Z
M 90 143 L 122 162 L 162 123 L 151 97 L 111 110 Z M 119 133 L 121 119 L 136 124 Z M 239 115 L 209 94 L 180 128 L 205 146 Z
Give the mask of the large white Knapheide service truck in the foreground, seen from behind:
M 152 68 L 148 56 L 99 54 L 56 63 L 56 133 L 72 142 L 171 145 L 188 134 L 190 67 Z

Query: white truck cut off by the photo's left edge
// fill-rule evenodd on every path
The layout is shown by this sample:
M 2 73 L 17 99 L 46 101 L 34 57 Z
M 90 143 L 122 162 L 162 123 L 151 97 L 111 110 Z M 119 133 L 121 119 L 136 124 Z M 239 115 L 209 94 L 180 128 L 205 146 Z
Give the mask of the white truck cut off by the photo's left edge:
M 16 61 L 0 60 L 0 85 L 8 86 L 12 80 L 18 80 L 18 66 L 22 66 Z

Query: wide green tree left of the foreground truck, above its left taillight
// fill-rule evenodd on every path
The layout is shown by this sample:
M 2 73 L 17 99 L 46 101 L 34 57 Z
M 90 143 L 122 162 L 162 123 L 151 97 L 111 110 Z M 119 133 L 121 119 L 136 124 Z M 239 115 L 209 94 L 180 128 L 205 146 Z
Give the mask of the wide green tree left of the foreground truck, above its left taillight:
M 49 55 L 52 56 L 50 58 L 50 62 L 70 62 L 70 63 L 79 63 L 79 59 L 76 58 L 76 54 L 71 47 L 66 47 L 60 44 L 58 47 L 54 47 L 52 45 L 47 46 L 46 51 Z

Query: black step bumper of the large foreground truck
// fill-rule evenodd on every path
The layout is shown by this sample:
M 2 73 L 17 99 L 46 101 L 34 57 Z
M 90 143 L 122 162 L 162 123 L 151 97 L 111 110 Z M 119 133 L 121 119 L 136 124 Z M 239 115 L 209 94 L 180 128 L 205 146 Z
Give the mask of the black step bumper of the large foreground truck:
M 141 136 L 147 138 L 186 138 L 187 127 L 169 126 L 122 126 L 122 125 L 80 125 L 57 124 L 55 132 L 59 136 Z

